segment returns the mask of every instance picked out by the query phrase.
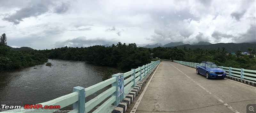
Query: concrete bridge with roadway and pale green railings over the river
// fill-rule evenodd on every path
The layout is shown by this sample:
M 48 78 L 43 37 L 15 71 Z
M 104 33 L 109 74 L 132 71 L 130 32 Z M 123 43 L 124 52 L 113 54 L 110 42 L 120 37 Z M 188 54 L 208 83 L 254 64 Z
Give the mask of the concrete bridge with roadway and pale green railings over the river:
M 176 63 L 175 63 L 176 62 Z M 181 64 L 179 64 L 181 63 Z M 183 65 L 182 65 L 183 64 Z M 185 66 L 187 65 L 187 66 Z M 255 70 L 241 70 L 240 78 L 231 76 L 238 70 L 229 67 L 228 78 L 206 79 L 197 75 L 196 63 L 182 61 L 152 61 L 126 73 L 88 88 L 74 87 L 73 93 L 44 102 L 42 106 L 59 105 L 58 109 L 15 109 L 11 112 L 54 112 L 73 104 L 70 113 L 82 112 L 246 112 L 248 107 L 256 109 L 255 82 L 244 80 L 244 75 L 255 76 Z M 190 67 L 189 67 L 190 66 Z M 227 67 L 222 67 L 227 68 Z M 233 69 L 233 70 L 232 70 Z M 225 70 L 225 69 L 224 69 Z M 239 72 L 236 72 L 239 73 Z M 253 73 L 253 74 L 252 74 Z M 235 81 L 236 80 L 236 81 Z M 239 82 L 238 82 L 239 81 Z M 240 82 L 241 81 L 241 82 Z M 102 88 L 111 88 L 85 103 L 85 98 Z M 253 105 L 249 105 L 253 104 Z M 249 106 L 248 106 L 249 105 Z M 36 107 L 36 105 L 34 105 Z M 10 111 L 6 111 L 10 112 Z

